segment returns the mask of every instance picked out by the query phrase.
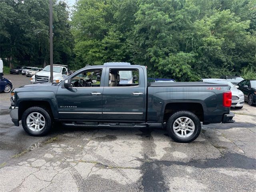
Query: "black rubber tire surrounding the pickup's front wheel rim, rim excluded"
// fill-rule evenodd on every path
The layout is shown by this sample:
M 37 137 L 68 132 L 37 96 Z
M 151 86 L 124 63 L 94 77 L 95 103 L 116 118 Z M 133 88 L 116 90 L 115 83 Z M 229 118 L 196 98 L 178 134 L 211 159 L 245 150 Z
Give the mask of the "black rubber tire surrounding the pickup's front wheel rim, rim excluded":
M 42 116 L 45 119 L 44 128 L 38 132 L 30 130 L 30 128 L 28 128 L 27 123 L 26 123 L 26 119 L 27 119 L 28 115 L 30 115 L 32 112 L 38 112 L 38 113 L 42 114 Z M 47 108 L 30 107 L 22 114 L 21 122 L 22 122 L 22 127 L 24 128 L 24 130 L 26 131 L 27 134 L 29 134 L 31 136 L 44 136 L 44 135 L 48 134 L 48 132 L 51 130 L 53 121 L 52 121 L 51 113 Z

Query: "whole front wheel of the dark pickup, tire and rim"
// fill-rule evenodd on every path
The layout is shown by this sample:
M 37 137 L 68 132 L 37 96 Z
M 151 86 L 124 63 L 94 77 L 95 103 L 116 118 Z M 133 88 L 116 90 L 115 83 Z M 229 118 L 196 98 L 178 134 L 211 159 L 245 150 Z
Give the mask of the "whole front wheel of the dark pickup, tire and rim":
M 50 112 L 42 107 L 30 107 L 21 118 L 22 127 L 32 136 L 44 136 L 52 127 Z

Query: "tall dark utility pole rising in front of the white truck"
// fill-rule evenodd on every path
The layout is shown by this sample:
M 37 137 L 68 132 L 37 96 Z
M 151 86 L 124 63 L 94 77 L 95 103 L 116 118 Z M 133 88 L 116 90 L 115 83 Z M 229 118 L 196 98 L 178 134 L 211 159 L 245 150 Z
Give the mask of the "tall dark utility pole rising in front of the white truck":
M 53 83 L 52 0 L 50 0 L 50 82 Z

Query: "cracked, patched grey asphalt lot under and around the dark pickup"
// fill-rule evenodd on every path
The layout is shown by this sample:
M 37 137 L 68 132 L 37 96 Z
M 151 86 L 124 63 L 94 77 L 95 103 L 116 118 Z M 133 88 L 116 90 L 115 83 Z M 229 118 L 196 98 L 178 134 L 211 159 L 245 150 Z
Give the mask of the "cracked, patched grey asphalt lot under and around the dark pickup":
M 14 87 L 29 84 L 5 75 Z M 0 191 L 255 191 L 256 107 L 202 126 L 191 143 L 160 128 L 62 128 L 28 136 L 0 94 Z

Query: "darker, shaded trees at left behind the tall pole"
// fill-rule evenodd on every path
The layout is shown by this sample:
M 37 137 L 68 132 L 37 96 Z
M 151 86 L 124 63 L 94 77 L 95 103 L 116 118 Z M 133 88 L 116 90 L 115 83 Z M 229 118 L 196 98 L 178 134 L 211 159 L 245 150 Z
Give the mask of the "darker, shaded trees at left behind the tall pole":
M 53 1 L 54 63 L 68 64 L 73 40 L 69 12 L 62 1 Z M 1 57 L 13 65 L 43 66 L 49 62 L 49 1 L 0 1 Z

